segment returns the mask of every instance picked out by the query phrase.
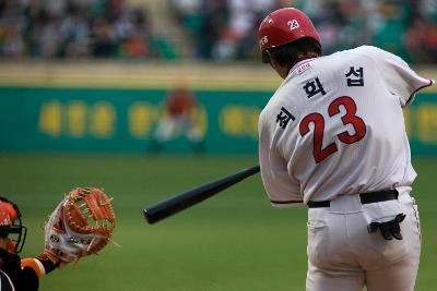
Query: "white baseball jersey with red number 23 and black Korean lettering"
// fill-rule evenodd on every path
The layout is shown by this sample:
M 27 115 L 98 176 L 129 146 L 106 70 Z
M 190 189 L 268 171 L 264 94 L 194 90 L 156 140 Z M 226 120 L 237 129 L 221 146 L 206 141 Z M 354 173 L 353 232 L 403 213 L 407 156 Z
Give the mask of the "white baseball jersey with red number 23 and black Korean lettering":
M 273 206 L 410 186 L 416 173 L 402 107 L 432 83 L 370 46 L 294 65 L 259 119 Z

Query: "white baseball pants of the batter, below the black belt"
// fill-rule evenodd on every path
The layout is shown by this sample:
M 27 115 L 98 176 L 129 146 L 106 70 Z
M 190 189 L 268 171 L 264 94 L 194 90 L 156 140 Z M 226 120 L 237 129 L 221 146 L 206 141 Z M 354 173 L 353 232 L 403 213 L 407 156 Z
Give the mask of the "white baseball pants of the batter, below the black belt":
M 421 255 L 417 206 L 401 187 L 398 201 L 361 204 L 359 195 L 331 201 L 326 208 L 308 209 L 307 291 L 412 291 Z M 387 241 L 368 233 L 373 221 L 400 223 L 403 240 Z

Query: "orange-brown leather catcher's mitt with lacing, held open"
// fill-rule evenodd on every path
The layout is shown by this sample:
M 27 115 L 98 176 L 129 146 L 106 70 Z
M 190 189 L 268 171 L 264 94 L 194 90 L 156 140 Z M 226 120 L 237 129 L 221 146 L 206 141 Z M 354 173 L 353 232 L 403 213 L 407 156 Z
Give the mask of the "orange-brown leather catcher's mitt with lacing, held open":
M 115 228 L 111 199 L 96 187 L 72 190 L 44 227 L 45 252 L 70 263 L 101 251 Z

